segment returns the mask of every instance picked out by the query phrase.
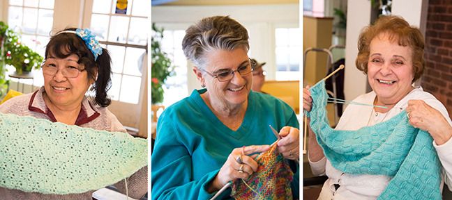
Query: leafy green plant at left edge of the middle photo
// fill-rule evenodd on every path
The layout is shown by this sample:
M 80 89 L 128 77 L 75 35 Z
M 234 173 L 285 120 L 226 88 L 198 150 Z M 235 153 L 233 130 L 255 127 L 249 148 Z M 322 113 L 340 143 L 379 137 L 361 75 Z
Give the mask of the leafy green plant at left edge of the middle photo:
M 163 28 L 157 28 L 156 24 L 152 24 L 151 37 L 151 104 L 163 102 L 163 88 L 162 85 L 168 76 L 174 74 L 171 60 L 169 60 L 167 53 L 160 48 L 160 42 L 163 38 Z

